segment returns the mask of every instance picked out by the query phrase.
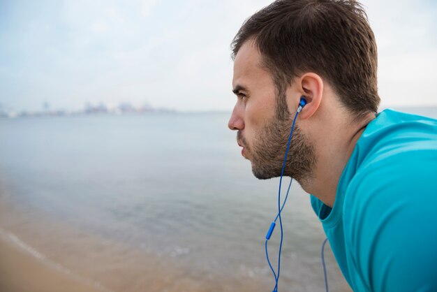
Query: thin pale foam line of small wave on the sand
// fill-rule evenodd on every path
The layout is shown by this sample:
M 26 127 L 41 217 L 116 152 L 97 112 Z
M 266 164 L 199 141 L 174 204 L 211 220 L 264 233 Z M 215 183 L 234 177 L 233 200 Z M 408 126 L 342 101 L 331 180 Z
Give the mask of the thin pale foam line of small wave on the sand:
M 54 261 L 51 261 L 48 259 L 44 254 L 41 254 L 39 251 L 31 247 L 29 244 L 25 243 L 24 241 L 20 240 L 20 238 L 17 237 L 17 235 L 5 231 L 2 228 L 0 228 L 0 236 L 3 238 L 3 240 L 7 240 L 8 242 L 15 244 L 15 246 L 20 247 L 23 251 L 27 252 L 27 254 L 30 254 L 31 256 L 34 256 L 34 258 L 38 258 L 41 262 L 43 262 L 45 265 L 50 266 L 51 268 L 54 268 L 55 270 L 58 270 L 60 272 L 64 272 L 69 277 L 82 282 L 84 284 L 91 284 L 91 286 L 94 286 L 94 288 L 104 291 L 104 292 L 114 292 L 105 286 L 103 286 L 101 283 L 88 279 L 86 277 L 82 277 L 79 275 L 75 275 L 71 270 L 68 268 L 65 268 L 64 266 L 60 265 L 59 263 L 55 263 Z

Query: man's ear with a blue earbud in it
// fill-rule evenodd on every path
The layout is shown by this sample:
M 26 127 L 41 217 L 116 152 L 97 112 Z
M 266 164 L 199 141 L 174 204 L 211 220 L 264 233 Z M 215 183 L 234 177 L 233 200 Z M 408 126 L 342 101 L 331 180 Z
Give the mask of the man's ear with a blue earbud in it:
M 323 79 L 316 73 L 305 73 L 295 81 L 296 91 L 300 96 L 293 96 L 296 109 L 301 96 L 305 97 L 306 105 L 299 112 L 299 119 L 308 119 L 318 110 L 323 98 Z

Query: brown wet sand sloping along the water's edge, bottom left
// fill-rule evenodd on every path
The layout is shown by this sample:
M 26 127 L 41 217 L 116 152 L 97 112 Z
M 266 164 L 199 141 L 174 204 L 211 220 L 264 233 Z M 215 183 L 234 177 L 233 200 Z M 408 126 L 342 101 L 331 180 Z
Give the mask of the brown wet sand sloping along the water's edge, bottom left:
M 4 195 L 4 193 L 3 193 Z M 1 292 L 267 291 L 251 277 L 225 279 L 165 255 L 40 217 L 1 198 Z

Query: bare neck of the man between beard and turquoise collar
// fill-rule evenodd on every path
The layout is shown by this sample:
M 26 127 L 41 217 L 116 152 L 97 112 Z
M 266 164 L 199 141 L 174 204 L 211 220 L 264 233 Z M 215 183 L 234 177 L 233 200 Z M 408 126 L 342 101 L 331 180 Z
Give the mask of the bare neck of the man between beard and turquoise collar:
M 375 118 L 369 114 L 358 123 L 339 123 L 331 121 L 331 125 L 323 128 L 323 139 L 315 141 L 317 163 L 313 179 L 308 185 L 302 185 L 306 191 L 316 196 L 329 207 L 334 206 L 336 190 L 350 156 L 355 149 L 367 124 Z M 331 129 L 331 131 L 327 131 Z

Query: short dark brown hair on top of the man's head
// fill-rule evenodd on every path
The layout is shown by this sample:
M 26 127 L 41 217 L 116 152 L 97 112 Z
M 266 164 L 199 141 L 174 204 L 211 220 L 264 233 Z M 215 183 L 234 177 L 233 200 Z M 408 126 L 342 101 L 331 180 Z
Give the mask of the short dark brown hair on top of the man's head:
M 378 110 L 375 36 L 357 1 L 274 1 L 244 22 L 231 44 L 232 59 L 249 40 L 279 92 L 312 71 L 334 87 L 355 119 Z

